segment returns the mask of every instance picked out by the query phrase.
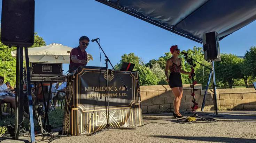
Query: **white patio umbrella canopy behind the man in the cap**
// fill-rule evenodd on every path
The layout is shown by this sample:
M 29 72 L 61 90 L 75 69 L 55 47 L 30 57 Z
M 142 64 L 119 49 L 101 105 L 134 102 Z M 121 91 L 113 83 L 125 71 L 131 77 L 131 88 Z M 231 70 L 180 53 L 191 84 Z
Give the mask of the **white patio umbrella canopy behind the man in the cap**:
M 28 48 L 30 62 L 46 62 L 46 63 L 69 63 L 69 55 L 71 47 L 62 44 L 52 43 L 50 45 Z M 11 56 L 16 57 L 16 51 L 11 51 Z M 25 58 L 25 52 L 23 51 Z M 87 63 L 93 60 L 91 54 L 87 54 Z

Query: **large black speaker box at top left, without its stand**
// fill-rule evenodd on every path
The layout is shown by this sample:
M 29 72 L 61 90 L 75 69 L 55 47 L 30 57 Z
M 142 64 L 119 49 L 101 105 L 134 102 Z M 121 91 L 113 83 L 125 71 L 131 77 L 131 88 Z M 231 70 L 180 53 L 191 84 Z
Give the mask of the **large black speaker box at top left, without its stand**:
M 1 42 L 7 46 L 34 44 L 34 0 L 2 0 Z

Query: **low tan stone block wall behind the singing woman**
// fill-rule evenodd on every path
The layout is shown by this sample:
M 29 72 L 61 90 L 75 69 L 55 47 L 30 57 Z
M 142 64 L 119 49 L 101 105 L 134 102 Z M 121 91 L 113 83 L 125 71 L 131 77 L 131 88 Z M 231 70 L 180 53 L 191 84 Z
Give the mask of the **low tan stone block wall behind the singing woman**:
M 201 84 L 195 85 L 195 98 L 201 105 L 205 90 L 201 90 Z M 159 113 L 161 111 L 173 111 L 174 95 L 169 85 L 159 86 L 140 86 L 142 113 Z M 218 89 L 217 102 L 218 107 L 231 110 L 255 110 L 256 109 L 256 90 L 254 88 L 237 88 L 237 89 Z M 191 89 L 189 84 L 183 85 L 183 97 L 181 99 L 180 109 L 191 111 L 193 105 Z M 212 92 L 208 90 L 205 98 L 204 110 L 214 110 L 212 101 Z

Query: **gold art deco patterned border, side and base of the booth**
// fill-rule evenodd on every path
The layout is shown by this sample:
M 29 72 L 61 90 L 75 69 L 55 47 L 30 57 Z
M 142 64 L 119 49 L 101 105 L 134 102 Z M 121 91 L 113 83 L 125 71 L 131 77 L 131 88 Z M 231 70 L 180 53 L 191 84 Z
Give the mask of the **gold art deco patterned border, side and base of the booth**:
M 140 126 L 143 124 L 142 113 L 141 113 L 141 101 L 140 101 L 140 85 L 138 72 L 131 72 L 127 77 L 131 77 L 133 87 L 133 101 L 129 107 L 115 107 L 109 109 L 109 120 L 106 110 L 89 110 L 88 107 L 78 106 L 80 105 L 80 98 L 83 96 L 80 94 L 81 81 L 78 80 L 80 74 L 86 74 L 86 71 L 82 71 L 68 75 L 67 80 L 67 91 L 66 91 L 66 102 L 63 119 L 63 132 L 72 135 L 81 135 L 87 133 L 93 133 L 100 131 L 109 124 L 111 127 L 127 127 L 127 126 Z M 88 70 L 88 69 L 85 69 Z M 94 72 L 89 69 L 88 72 Z M 99 72 L 98 72 L 99 73 Z M 104 73 L 104 79 L 111 81 L 114 79 L 114 73 L 108 70 Z M 84 99 L 83 99 L 84 100 Z M 87 99 L 86 99 L 87 100 Z M 77 102 L 78 101 L 78 102 Z M 82 101 L 82 99 L 81 99 Z M 86 107 L 86 108 L 85 108 Z M 76 109 L 76 111 L 75 111 Z

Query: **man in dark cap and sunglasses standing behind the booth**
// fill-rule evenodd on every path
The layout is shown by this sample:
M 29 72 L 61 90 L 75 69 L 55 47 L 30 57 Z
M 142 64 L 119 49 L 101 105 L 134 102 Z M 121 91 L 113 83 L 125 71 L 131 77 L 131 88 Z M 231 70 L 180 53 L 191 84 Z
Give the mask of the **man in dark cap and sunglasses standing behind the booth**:
M 90 39 L 87 36 L 79 38 L 79 46 L 73 48 L 69 56 L 69 73 L 76 70 L 79 66 L 87 64 L 87 53 L 85 49 L 89 45 Z

